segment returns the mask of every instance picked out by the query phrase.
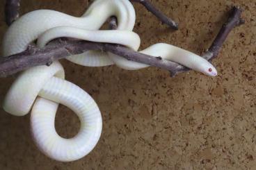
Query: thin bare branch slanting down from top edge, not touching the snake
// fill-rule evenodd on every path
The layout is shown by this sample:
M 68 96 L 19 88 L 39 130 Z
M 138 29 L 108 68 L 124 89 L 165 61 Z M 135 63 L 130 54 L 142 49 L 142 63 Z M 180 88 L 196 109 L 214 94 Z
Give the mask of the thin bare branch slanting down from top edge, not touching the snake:
M 153 15 L 158 17 L 163 24 L 166 24 L 170 26 L 170 28 L 173 28 L 174 30 L 178 29 L 178 24 L 173 21 L 173 19 L 170 19 L 166 15 L 163 14 L 160 10 L 158 10 L 150 1 L 148 0 L 130 0 L 134 2 L 141 3 L 145 8 L 147 8 L 148 11 L 152 12 Z

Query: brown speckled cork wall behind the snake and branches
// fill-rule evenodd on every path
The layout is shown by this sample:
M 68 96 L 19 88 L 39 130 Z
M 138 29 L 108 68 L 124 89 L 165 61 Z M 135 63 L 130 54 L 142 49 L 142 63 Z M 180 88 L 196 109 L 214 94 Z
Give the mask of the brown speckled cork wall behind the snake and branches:
M 166 42 L 202 54 L 232 6 L 244 9 L 246 24 L 235 28 L 213 63 L 216 78 L 195 71 L 170 78 L 168 71 L 147 68 L 90 68 L 62 60 L 66 79 L 86 90 L 99 105 L 103 131 L 89 155 L 56 162 L 32 141 L 29 117 L 0 110 L 0 169 L 256 169 L 256 3 L 253 0 L 152 0 L 179 22 L 171 31 L 143 6 L 134 3 L 134 31 L 141 49 Z M 0 40 L 6 31 L 0 3 Z M 84 0 L 22 0 L 21 13 L 47 8 L 83 14 Z M 15 76 L 0 79 L 0 101 Z M 79 119 L 61 106 L 56 129 L 73 137 Z

